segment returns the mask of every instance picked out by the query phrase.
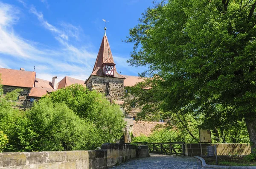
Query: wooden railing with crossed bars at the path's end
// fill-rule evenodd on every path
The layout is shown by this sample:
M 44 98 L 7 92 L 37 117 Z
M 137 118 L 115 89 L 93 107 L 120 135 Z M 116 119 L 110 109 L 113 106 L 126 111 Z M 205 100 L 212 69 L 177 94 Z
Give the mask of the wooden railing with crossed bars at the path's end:
M 142 145 L 143 143 L 134 144 Z M 147 143 L 146 145 L 151 153 L 185 156 L 185 142 Z

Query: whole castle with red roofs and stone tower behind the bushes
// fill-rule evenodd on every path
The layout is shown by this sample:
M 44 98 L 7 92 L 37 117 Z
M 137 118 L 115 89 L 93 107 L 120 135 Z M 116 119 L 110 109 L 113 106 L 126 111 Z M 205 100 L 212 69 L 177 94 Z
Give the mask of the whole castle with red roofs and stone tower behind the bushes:
M 119 104 L 123 110 L 125 87 L 130 87 L 143 81 L 138 76 L 121 75 L 116 71 L 116 64 L 106 35 L 106 28 L 92 73 L 85 81 L 68 76 L 65 76 L 58 83 L 57 76 L 52 77 L 52 81 L 47 81 L 36 78 L 36 72 L 25 71 L 23 68 L 20 68 L 20 70 L 0 68 L 0 74 L 4 94 L 17 88 L 23 89 L 16 104 L 17 108 L 23 110 L 30 108 L 34 101 L 37 101 L 47 93 L 76 83 L 86 85 L 89 90 L 103 93 L 111 103 Z M 139 109 L 134 108 L 128 115 L 125 115 L 124 120 L 127 124 L 124 129 L 124 135 L 120 140 L 121 143 L 131 142 L 131 132 L 134 137 L 141 134 L 149 136 L 154 127 L 160 123 L 135 121 L 139 111 Z

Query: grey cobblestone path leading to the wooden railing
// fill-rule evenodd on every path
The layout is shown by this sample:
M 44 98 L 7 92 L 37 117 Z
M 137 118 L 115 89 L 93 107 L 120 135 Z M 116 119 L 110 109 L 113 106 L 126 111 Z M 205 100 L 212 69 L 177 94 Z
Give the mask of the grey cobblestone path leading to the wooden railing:
M 113 169 L 206 169 L 194 157 L 150 154 L 148 158 L 134 158 Z M 209 169 L 209 168 L 207 168 Z

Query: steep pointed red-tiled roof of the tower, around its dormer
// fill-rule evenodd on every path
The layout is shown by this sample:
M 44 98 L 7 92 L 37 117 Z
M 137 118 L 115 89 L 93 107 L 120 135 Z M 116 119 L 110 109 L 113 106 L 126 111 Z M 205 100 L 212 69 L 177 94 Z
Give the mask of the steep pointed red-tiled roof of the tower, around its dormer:
M 103 74 L 103 64 L 105 63 L 105 64 L 111 64 L 111 65 L 114 66 L 114 77 L 125 79 L 124 76 L 120 75 L 116 71 L 116 66 L 115 66 L 116 64 L 114 62 L 114 59 L 113 59 L 113 56 L 112 56 L 112 53 L 111 53 L 111 49 L 110 49 L 110 46 L 109 46 L 108 38 L 107 38 L 107 35 L 106 35 L 106 29 L 107 28 L 105 27 L 104 29 L 105 29 L 105 34 L 103 36 L 102 43 L 101 43 L 100 48 L 99 48 L 99 53 L 98 53 L 96 62 L 95 62 L 94 67 L 93 67 L 92 75 L 104 76 L 104 74 Z

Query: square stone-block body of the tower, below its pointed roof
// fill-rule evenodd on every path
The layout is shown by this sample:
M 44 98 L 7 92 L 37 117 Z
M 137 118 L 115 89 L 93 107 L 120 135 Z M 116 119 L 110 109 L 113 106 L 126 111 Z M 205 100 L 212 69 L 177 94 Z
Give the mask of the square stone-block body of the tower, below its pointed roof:
M 100 93 L 107 94 L 107 84 L 111 83 L 110 93 L 107 96 L 111 101 L 123 101 L 124 96 L 124 79 L 113 78 L 108 76 L 93 76 L 87 80 L 87 87 L 90 90 L 97 90 Z

